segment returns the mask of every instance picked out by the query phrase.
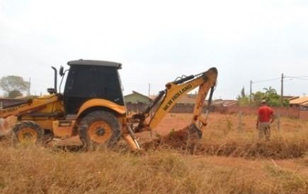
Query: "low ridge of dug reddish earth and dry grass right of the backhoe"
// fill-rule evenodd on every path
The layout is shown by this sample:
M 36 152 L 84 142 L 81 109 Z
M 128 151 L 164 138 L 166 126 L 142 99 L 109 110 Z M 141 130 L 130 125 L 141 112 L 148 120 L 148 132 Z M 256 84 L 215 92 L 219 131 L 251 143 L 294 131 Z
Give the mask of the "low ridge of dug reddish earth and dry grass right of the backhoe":
M 243 157 L 246 159 L 273 158 L 290 159 L 304 157 L 308 143 L 302 141 L 270 140 L 270 141 L 228 141 L 226 143 L 205 143 L 203 140 L 188 138 L 188 128 L 172 131 L 169 135 L 159 136 L 143 143 L 146 151 L 177 150 L 183 154 L 212 155 L 225 157 Z

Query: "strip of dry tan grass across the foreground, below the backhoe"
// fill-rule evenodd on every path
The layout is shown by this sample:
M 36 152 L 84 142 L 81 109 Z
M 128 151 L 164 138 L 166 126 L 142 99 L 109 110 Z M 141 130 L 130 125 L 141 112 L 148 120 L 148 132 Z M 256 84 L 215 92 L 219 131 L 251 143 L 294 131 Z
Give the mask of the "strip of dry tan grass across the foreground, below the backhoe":
M 1 193 L 307 193 L 308 176 L 277 164 L 173 150 L 52 152 L 0 147 Z M 304 166 L 304 164 L 302 164 Z

